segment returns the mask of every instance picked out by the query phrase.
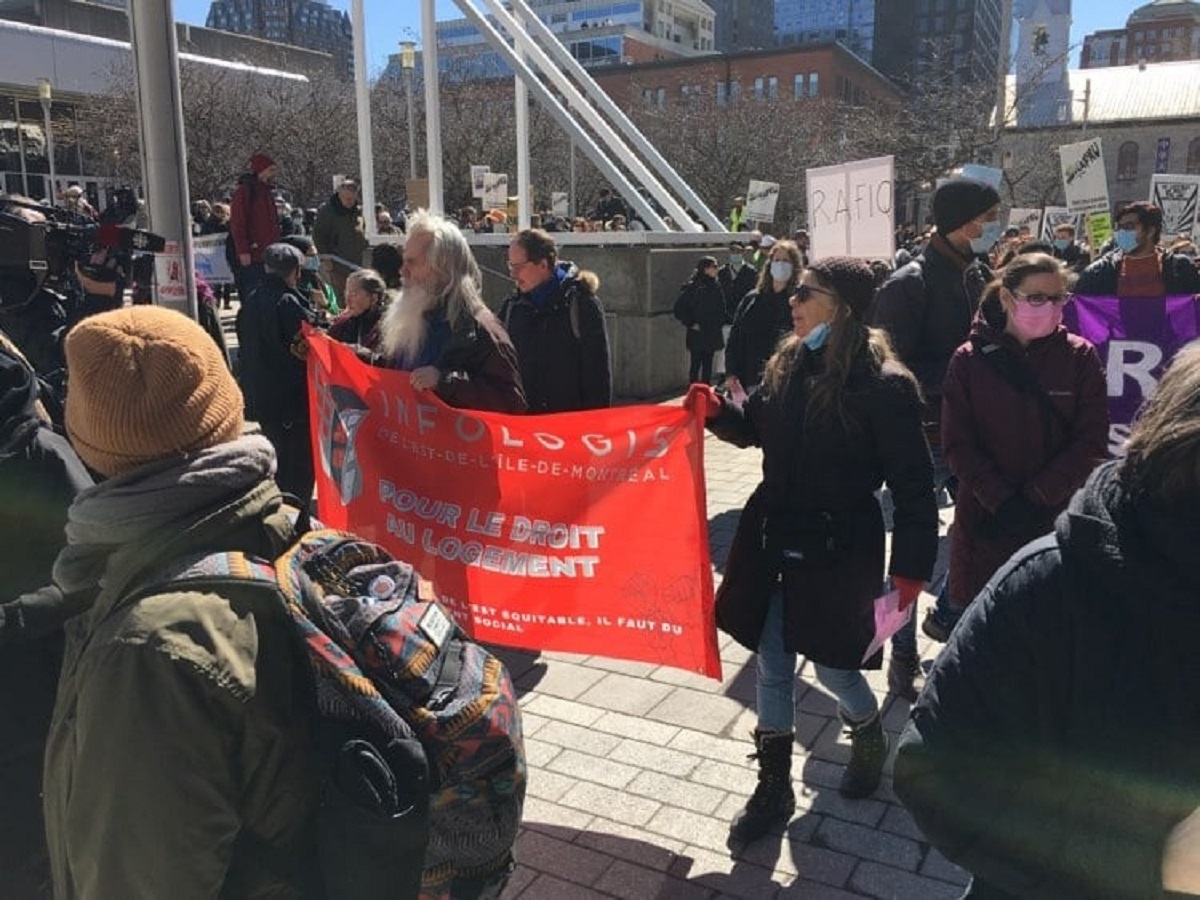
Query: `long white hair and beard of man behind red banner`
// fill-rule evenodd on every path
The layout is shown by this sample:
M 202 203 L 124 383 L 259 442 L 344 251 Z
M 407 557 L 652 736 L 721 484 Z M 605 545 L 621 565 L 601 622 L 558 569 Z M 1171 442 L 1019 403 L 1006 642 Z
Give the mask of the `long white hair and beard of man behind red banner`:
M 420 354 L 428 328 L 425 313 L 430 310 L 444 306 L 455 331 L 487 311 L 479 264 L 458 226 L 422 210 L 408 221 L 407 241 L 421 238 L 428 238 L 425 258 L 430 283 L 406 282 L 379 325 L 384 355 L 392 360 L 413 360 Z

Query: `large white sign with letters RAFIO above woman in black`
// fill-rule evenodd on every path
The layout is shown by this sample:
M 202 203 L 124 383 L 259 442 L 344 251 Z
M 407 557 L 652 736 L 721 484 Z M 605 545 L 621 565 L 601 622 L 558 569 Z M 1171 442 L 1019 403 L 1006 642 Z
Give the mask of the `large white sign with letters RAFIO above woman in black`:
M 890 156 L 805 173 L 810 256 L 892 259 L 895 161 Z

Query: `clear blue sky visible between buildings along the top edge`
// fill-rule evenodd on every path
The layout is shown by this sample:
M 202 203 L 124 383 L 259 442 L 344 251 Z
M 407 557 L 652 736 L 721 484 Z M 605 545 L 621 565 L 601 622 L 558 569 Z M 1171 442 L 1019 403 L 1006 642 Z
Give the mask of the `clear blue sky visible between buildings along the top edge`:
M 890 0 L 881 0 L 889 2 Z M 762 0 L 767 2 L 767 0 Z M 1078 44 L 1084 35 L 1102 28 L 1121 28 L 1129 13 L 1142 5 L 1145 0 L 1075 0 L 1072 4 L 1074 23 L 1070 40 Z M 209 14 L 209 0 L 175 0 L 175 18 L 203 25 Z M 349 0 L 332 0 L 332 6 L 348 10 Z M 478 5 L 482 8 L 482 5 Z M 388 54 L 396 53 L 402 38 L 410 36 L 420 42 L 421 2 L 420 0 L 364 0 L 364 14 L 367 19 L 367 56 L 371 60 L 370 71 L 377 73 L 388 62 Z M 461 18 L 462 13 L 454 0 L 437 0 L 438 19 Z M 1078 61 L 1078 49 L 1073 60 Z

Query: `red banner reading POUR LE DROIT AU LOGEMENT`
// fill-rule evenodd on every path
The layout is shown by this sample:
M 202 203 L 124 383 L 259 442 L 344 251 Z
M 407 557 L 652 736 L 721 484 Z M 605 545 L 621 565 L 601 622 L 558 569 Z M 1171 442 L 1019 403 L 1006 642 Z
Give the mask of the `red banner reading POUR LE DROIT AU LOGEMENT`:
M 455 409 L 308 337 L 320 520 L 433 582 L 475 640 L 721 677 L 703 422 Z

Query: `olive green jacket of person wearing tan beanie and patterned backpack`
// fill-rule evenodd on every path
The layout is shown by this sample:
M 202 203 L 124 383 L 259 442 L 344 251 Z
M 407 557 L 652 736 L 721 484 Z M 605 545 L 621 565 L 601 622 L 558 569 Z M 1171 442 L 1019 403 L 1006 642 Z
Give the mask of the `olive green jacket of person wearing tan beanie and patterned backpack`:
M 144 589 L 196 554 L 274 558 L 287 533 L 265 480 L 109 558 L 72 623 L 46 755 L 61 900 L 299 898 L 316 884 L 311 686 L 282 607 L 254 586 Z

